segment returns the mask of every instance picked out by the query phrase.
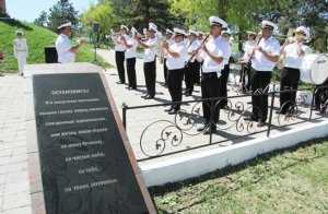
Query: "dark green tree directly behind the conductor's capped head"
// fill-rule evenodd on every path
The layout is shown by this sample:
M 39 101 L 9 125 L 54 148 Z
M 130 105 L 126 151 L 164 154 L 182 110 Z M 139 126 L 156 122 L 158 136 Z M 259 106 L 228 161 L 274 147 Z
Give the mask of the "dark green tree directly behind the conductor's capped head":
M 47 25 L 51 31 L 56 32 L 57 27 L 65 21 L 72 22 L 73 26 L 77 26 L 79 23 L 78 11 L 70 0 L 59 0 L 49 9 Z

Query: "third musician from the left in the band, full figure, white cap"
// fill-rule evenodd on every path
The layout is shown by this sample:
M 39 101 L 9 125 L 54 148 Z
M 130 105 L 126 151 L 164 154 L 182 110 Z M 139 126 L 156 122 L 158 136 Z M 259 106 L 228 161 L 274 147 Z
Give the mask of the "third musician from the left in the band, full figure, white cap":
M 145 39 L 141 40 L 138 38 L 138 43 L 141 48 L 144 49 L 143 54 L 143 72 L 147 86 L 147 95 L 143 96 L 145 99 L 153 99 L 156 94 L 156 37 L 157 26 L 153 23 L 149 24 L 147 29 Z

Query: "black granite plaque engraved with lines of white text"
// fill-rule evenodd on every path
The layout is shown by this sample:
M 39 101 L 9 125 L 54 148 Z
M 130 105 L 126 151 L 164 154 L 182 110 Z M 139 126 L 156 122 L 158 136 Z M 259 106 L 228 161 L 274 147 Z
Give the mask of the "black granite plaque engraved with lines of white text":
M 33 78 L 47 214 L 149 213 L 98 73 Z

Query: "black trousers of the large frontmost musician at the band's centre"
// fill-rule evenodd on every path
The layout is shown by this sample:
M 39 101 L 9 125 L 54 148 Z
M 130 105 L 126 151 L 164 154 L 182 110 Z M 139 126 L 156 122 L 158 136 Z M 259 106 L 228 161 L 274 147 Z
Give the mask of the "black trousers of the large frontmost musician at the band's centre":
M 201 97 L 203 99 L 221 97 L 220 79 L 216 72 L 201 74 Z M 218 102 L 219 100 L 209 100 L 202 103 L 203 118 L 207 123 L 218 123 L 220 111 L 215 105 Z

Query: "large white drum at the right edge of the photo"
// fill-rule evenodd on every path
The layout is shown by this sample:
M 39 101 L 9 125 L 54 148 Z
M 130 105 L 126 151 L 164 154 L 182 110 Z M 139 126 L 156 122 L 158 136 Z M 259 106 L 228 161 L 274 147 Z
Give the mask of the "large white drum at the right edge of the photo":
M 328 79 L 328 57 L 326 55 L 306 55 L 302 62 L 301 81 L 320 85 Z

